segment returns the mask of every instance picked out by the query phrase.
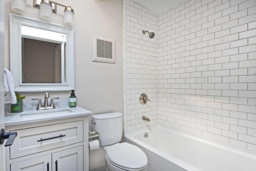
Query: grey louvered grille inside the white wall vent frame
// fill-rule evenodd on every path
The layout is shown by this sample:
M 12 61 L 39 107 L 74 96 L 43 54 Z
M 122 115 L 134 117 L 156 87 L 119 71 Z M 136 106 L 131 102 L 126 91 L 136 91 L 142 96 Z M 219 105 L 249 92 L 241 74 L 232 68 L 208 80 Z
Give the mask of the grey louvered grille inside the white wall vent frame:
M 112 59 L 112 42 L 97 39 L 97 57 Z

